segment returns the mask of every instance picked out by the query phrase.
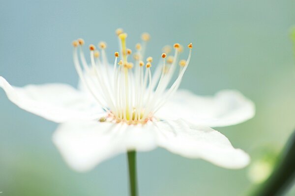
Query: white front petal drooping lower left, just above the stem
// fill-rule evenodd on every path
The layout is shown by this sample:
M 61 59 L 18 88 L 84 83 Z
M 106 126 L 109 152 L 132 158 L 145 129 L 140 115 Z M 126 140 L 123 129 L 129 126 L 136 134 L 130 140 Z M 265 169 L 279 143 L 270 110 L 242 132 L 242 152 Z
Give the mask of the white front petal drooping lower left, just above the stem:
M 156 147 L 153 123 L 68 122 L 59 125 L 53 141 L 67 164 L 80 172 L 127 150 Z

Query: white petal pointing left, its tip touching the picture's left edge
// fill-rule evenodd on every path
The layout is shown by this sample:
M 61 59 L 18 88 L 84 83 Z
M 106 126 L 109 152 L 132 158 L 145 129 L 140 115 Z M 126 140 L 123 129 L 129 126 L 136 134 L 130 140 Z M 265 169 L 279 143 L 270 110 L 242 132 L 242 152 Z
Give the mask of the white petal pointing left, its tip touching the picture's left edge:
M 72 119 L 97 119 L 102 108 L 66 84 L 12 87 L 0 76 L 0 87 L 20 108 L 47 120 L 62 123 Z

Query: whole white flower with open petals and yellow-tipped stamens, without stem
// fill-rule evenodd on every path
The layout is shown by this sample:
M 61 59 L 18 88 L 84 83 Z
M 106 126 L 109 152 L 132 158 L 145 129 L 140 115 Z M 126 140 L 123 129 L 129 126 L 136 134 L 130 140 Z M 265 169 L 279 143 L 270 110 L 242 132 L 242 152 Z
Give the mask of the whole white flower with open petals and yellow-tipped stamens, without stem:
M 220 167 L 246 166 L 249 156 L 210 127 L 252 118 L 254 104 L 233 90 L 213 97 L 177 90 L 190 61 L 192 44 L 188 45 L 187 60 L 179 61 L 179 66 L 183 47 L 175 44 L 173 56 L 168 56 L 171 48 L 165 47 L 151 74 L 153 59 L 144 58 L 149 34 L 142 34 L 142 44 L 136 45 L 134 63 L 130 60 L 132 50 L 126 48 L 127 34 L 121 29 L 117 34 L 120 52 L 115 52 L 113 66 L 106 57 L 106 43 L 99 43 L 100 52 L 89 46 L 89 65 L 83 52 L 84 40 L 73 42 L 74 65 L 81 79 L 78 90 L 59 83 L 12 87 L 3 77 L 0 87 L 20 108 L 60 123 L 53 142 L 77 171 L 88 171 L 127 150 L 155 147 Z M 173 81 L 174 73 L 177 78 Z

